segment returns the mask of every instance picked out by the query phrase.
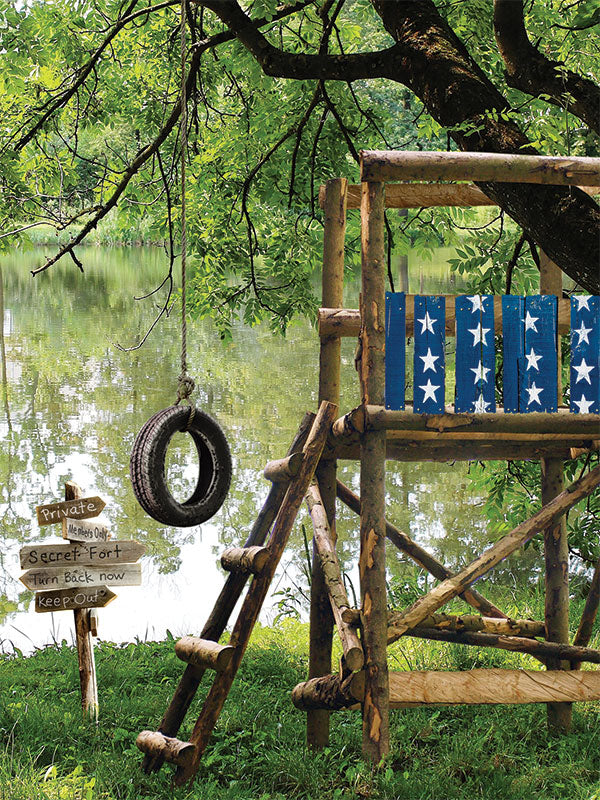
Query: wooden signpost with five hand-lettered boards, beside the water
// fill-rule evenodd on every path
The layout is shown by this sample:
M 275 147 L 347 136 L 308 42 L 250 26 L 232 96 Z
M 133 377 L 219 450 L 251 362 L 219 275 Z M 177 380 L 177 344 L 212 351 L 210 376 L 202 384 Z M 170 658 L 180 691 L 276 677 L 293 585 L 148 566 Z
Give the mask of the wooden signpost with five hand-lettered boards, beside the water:
M 35 610 L 73 611 L 84 715 L 98 721 L 98 685 L 92 636 L 97 636 L 97 612 L 116 594 L 108 586 L 139 586 L 146 550 L 136 541 L 111 540 L 106 525 L 94 520 L 106 503 L 82 497 L 76 483 L 65 484 L 65 499 L 37 506 L 39 525 L 62 523 L 68 544 L 27 545 L 19 557 L 26 572 L 21 581 L 36 591 Z M 91 520 L 91 521 L 90 521 Z

